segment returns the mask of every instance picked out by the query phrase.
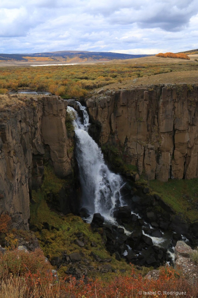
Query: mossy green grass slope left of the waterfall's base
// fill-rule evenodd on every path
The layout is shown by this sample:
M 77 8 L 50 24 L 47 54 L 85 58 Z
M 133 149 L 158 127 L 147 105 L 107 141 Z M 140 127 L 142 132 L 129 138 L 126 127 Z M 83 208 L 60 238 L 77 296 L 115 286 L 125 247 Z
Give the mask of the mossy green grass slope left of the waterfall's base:
M 35 204 L 31 204 L 31 224 L 37 226 L 41 229 L 41 232 L 35 232 L 39 240 L 39 244 L 45 255 L 49 255 L 50 259 L 55 256 L 62 255 L 62 252 L 66 251 L 69 255 L 73 252 L 83 253 L 84 257 L 90 261 L 90 265 L 93 265 L 94 268 L 99 266 L 99 263 L 93 260 L 93 257 L 90 257 L 91 252 L 97 254 L 101 259 L 112 258 L 110 265 L 113 269 L 126 269 L 125 274 L 130 274 L 131 267 L 125 262 L 125 260 L 117 261 L 115 256 L 110 256 L 110 253 L 107 252 L 105 244 L 102 240 L 102 237 L 99 232 L 92 232 L 90 224 L 84 223 L 79 216 L 73 214 L 68 214 L 66 216 L 60 216 L 58 213 L 53 212 L 48 207 L 43 193 L 39 190 L 38 192 L 33 192 L 33 200 Z M 50 231 L 47 229 L 42 229 L 43 222 L 47 222 L 50 225 Z M 52 229 L 52 226 L 57 229 Z M 88 243 L 84 247 L 77 246 L 74 241 L 77 239 L 77 233 L 83 233 L 83 238 L 88 240 Z M 96 243 L 96 247 L 92 247 L 91 243 Z M 70 267 L 62 266 L 59 269 L 59 274 L 64 276 L 64 272 Z M 101 273 L 91 272 L 89 273 L 92 277 L 100 277 Z M 115 276 L 115 273 L 112 273 Z M 102 274 L 102 278 L 111 279 L 110 273 Z

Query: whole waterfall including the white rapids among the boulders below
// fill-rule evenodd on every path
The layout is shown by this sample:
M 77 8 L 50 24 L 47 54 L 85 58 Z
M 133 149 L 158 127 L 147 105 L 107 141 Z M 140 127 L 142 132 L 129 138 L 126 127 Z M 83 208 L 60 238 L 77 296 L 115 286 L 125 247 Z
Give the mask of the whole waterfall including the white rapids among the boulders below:
M 82 207 L 87 208 L 89 211 L 90 218 L 88 218 L 88 222 L 92 221 L 94 213 L 99 212 L 104 216 L 106 222 L 110 222 L 117 227 L 122 227 L 127 236 L 133 235 L 132 231 L 119 225 L 113 217 L 113 211 L 118 209 L 119 206 L 124 205 L 120 190 L 125 183 L 120 175 L 111 172 L 105 164 L 101 149 L 88 134 L 88 126 L 90 124 L 86 108 L 78 102 L 77 105 L 83 113 L 83 119 L 79 117 L 74 108 L 68 106 L 67 111 L 71 113 L 74 118 L 73 125 L 75 128 L 76 158 L 82 190 Z M 134 211 L 132 211 L 131 214 L 135 214 L 138 219 L 141 219 L 141 217 L 134 213 Z M 139 221 L 139 224 L 142 225 L 142 220 Z M 144 232 L 144 226 L 149 227 L 153 231 L 155 230 L 150 224 L 144 222 L 142 226 L 142 234 L 151 238 L 154 246 L 158 246 L 159 249 L 161 247 L 169 247 L 167 254 L 172 257 L 171 232 L 167 231 L 163 233 L 161 237 L 154 237 Z M 117 241 L 117 238 L 118 237 L 115 238 L 115 241 Z M 132 249 L 125 240 L 123 240 L 123 244 L 124 243 L 126 244 L 127 249 L 123 252 L 123 256 L 127 256 Z M 144 243 L 144 245 L 146 244 Z M 141 250 L 142 249 L 140 249 L 140 257 L 139 254 L 136 254 L 137 258 L 140 259 L 140 262 L 142 261 Z M 143 254 L 145 254 L 145 252 L 143 252 Z

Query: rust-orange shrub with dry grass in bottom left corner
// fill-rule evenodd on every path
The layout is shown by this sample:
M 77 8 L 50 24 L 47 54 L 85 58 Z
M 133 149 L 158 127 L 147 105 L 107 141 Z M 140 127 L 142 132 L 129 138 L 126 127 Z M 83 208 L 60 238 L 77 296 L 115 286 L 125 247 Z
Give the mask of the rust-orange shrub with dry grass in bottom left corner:
M 63 297 L 41 249 L 0 253 L 0 298 L 15 297 Z

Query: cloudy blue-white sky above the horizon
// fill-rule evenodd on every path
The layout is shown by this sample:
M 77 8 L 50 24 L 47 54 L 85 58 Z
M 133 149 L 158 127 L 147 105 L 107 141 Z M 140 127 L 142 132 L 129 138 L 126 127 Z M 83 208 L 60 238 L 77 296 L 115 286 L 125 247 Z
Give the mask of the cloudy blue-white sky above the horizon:
M 197 0 L 0 0 L 0 53 L 198 48 Z

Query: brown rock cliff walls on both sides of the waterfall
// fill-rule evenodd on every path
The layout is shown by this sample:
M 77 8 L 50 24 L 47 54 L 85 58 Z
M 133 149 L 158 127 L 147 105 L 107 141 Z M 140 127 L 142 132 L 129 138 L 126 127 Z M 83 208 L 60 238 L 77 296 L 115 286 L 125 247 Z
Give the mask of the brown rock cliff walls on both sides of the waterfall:
M 100 90 L 85 101 L 101 146 L 121 146 L 137 178 L 167 181 L 198 176 L 197 94 L 194 85 L 163 84 Z M 15 227 L 25 229 L 44 162 L 62 178 L 74 164 L 74 137 L 65 125 L 68 102 L 57 96 L 32 101 L 33 106 L 0 113 L 0 213 L 9 212 Z

